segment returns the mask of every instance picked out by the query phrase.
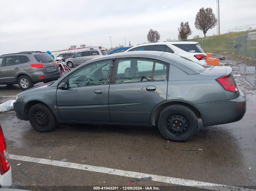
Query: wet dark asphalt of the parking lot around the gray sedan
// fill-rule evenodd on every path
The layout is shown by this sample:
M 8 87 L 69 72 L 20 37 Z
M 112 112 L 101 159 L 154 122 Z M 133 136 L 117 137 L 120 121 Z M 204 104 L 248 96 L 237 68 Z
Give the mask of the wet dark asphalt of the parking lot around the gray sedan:
M 17 119 L 15 111 L 8 111 L 0 113 L 8 152 L 230 186 L 247 185 L 255 189 L 254 71 L 251 74 L 243 71 L 248 66 L 244 63 L 228 59 L 225 62 L 232 66 L 237 84 L 247 99 L 246 114 L 238 122 L 203 127 L 199 121 L 194 138 L 189 142 L 178 143 L 167 142 L 156 127 L 58 124 L 53 131 L 40 133 L 28 121 Z M 250 78 L 251 82 L 248 80 Z M 0 85 L 0 96 L 15 96 L 19 92 L 18 85 Z M 0 97 L 0 103 L 9 99 L 12 97 Z M 11 162 L 15 165 L 20 163 L 18 167 L 45 190 L 84 190 L 79 186 L 126 186 L 131 179 L 13 159 Z M 12 176 L 13 183 L 29 190 L 40 190 L 14 167 Z M 142 185 L 166 186 L 161 190 L 202 190 L 150 180 L 134 183 L 134 186 Z

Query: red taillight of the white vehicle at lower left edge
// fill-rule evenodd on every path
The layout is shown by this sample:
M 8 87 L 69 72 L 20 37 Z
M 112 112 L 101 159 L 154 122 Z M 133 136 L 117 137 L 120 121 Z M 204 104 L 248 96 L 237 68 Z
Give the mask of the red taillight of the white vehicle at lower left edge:
M 0 125 L 0 152 L 4 155 L 7 159 L 9 159 L 8 152 L 6 150 L 6 143 L 5 143 L 5 136 Z M 3 175 L 6 171 L 10 169 L 10 163 L 0 155 L 0 173 Z

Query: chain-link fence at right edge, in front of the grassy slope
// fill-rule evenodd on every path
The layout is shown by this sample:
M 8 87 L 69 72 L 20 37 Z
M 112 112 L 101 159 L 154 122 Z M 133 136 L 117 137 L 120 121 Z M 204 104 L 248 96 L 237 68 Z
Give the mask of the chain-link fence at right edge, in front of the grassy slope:
M 238 37 L 235 44 L 235 54 L 249 58 L 256 58 L 256 32 Z

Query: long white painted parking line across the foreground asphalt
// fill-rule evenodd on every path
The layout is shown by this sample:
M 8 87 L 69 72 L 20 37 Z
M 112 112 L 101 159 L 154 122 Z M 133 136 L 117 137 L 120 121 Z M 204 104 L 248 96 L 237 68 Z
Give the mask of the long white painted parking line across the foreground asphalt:
M 191 187 L 210 189 L 210 190 L 218 190 L 218 191 L 230 191 L 230 190 L 252 191 L 254 190 L 254 189 L 242 188 L 237 186 L 227 186 L 227 185 L 214 184 L 214 183 L 208 183 L 208 182 L 200 182 L 195 180 L 158 176 L 154 174 L 145 174 L 145 173 L 118 170 L 118 169 L 106 168 L 106 167 L 97 167 L 97 166 L 91 166 L 87 164 L 77 164 L 77 163 L 70 163 L 70 162 L 64 162 L 64 161 L 53 161 L 49 159 L 27 157 L 27 156 L 20 156 L 20 155 L 14 155 L 14 154 L 9 154 L 9 157 L 10 159 L 19 160 L 19 161 L 48 164 L 48 165 L 53 165 L 58 167 L 67 167 L 67 168 L 74 168 L 79 170 L 88 170 L 91 172 L 106 173 L 106 174 L 118 175 L 123 177 L 132 177 L 132 178 L 151 177 L 153 181 L 157 181 L 157 182 L 171 183 L 171 184 L 176 184 L 181 186 L 191 186 Z

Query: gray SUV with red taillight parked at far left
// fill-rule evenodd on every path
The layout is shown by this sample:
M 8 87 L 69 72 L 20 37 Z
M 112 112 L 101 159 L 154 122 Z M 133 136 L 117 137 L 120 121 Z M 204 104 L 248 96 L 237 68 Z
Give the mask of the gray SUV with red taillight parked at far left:
M 3 54 L 0 56 L 0 84 L 18 84 L 22 90 L 38 82 L 58 79 L 60 70 L 55 60 L 40 51 Z

